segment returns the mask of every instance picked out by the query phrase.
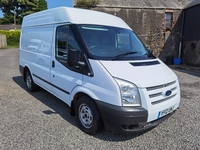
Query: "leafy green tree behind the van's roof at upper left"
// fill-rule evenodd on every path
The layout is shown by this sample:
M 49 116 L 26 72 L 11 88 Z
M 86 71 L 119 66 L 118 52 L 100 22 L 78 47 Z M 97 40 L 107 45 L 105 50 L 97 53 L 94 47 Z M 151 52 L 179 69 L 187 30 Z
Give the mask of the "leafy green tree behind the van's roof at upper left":
M 47 9 L 46 0 L 0 0 L 1 24 L 21 24 L 24 16 Z

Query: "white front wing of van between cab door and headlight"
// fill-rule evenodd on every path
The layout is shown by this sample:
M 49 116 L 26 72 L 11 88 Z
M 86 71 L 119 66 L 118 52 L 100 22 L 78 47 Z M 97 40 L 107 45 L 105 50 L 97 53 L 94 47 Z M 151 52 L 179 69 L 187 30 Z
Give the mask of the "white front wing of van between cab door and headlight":
M 89 60 L 94 76 L 83 76 L 83 87 L 95 93 L 95 100 L 122 106 L 119 87 L 99 61 Z M 92 97 L 93 98 L 93 97 Z

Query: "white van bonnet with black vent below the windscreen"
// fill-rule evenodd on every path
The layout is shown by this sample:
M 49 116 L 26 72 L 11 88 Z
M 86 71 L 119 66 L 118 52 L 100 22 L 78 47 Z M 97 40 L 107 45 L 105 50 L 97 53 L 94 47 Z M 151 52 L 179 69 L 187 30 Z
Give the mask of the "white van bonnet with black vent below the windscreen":
M 100 63 L 116 78 L 134 83 L 139 88 L 166 84 L 177 79 L 175 73 L 161 60 L 104 61 Z

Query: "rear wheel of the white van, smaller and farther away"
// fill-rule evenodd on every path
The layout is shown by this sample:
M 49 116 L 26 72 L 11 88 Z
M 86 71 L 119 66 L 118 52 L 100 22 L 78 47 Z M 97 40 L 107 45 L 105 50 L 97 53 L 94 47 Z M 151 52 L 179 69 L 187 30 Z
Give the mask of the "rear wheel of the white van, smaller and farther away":
M 34 83 L 33 78 L 29 70 L 25 73 L 25 83 L 28 91 L 34 92 L 37 90 L 37 85 Z

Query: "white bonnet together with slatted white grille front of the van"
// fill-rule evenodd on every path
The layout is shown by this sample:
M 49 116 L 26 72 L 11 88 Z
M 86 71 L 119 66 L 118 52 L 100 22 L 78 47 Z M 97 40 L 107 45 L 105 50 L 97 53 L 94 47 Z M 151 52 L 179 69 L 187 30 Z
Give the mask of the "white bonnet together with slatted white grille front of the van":
M 100 61 L 113 77 L 129 81 L 139 87 L 142 107 L 148 110 L 147 122 L 158 119 L 160 111 L 170 106 L 174 106 L 175 110 L 180 104 L 180 87 L 177 77 L 159 59 L 156 60 L 159 61 L 160 64 L 149 66 L 133 66 L 131 65 L 133 61 Z M 140 62 L 137 61 L 137 63 Z M 117 68 L 120 68 L 120 71 L 118 71 Z M 159 72 L 156 70 L 159 70 Z M 172 81 L 175 81 L 175 83 L 170 86 L 164 86 L 164 84 L 171 83 Z M 162 85 L 163 87 L 147 91 L 147 88 Z M 163 95 L 163 93 L 168 90 L 172 90 L 171 97 Z M 151 95 L 156 95 L 158 93 L 161 94 L 157 97 L 150 98 Z M 161 102 L 153 105 L 157 101 Z

